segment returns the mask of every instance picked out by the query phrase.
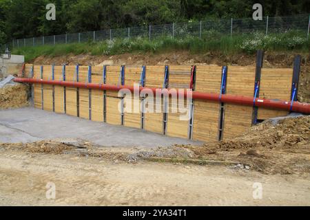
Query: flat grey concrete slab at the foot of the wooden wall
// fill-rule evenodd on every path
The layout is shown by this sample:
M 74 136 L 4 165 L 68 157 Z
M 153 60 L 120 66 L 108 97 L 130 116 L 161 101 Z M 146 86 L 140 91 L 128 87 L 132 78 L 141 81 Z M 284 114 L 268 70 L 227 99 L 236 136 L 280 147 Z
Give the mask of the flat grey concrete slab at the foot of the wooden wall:
M 141 129 L 92 122 L 26 107 L 0 110 L 0 142 L 32 142 L 56 138 L 81 138 L 102 146 L 156 147 L 172 144 L 201 144 L 177 137 L 166 137 Z

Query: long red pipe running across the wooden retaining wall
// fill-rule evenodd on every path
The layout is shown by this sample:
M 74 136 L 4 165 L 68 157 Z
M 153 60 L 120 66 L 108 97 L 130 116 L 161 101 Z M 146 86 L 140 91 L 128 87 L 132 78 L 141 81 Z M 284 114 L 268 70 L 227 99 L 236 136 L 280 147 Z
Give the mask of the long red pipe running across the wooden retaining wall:
M 112 90 L 112 91 L 119 91 L 121 89 L 129 89 L 130 91 L 134 92 L 134 87 L 132 86 L 116 86 L 116 85 L 106 85 L 106 84 L 99 84 L 99 83 L 78 83 L 78 82 L 68 82 L 68 81 L 56 81 L 56 80 L 41 80 L 41 79 L 34 79 L 34 78 L 14 78 L 14 82 L 18 83 L 39 83 L 45 85 L 60 85 L 63 87 L 76 87 L 76 88 L 83 88 L 83 89 L 99 89 L 99 90 Z M 139 91 L 143 89 L 150 89 L 154 94 L 158 89 L 156 88 L 148 88 L 148 87 L 140 87 Z M 171 93 L 170 93 L 171 91 Z M 177 96 L 187 97 L 187 92 L 184 90 L 174 90 L 177 93 Z M 162 89 L 163 94 L 173 94 L 174 91 L 172 89 Z M 267 109 L 282 109 L 287 111 L 295 111 L 300 113 L 310 114 L 310 104 L 309 103 L 302 103 L 302 102 L 293 102 L 285 101 L 285 100 L 270 100 L 270 99 L 263 99 L 263 98 L 256 98 L 254 100 L 253 97 L 249 96 L 236 96 L 236 95 L 228 95 L 223 94 L 207 94 L 202 93 L 199 91 L 190 91 L 192 93 L 192 98 L 198 100 L 209 100 L 214 102 L 224 102 L 230 104 L 241 104 L 247 106 L 255 106 L 262 107 Z M 190 94 L 189 93 L 189 94 Z

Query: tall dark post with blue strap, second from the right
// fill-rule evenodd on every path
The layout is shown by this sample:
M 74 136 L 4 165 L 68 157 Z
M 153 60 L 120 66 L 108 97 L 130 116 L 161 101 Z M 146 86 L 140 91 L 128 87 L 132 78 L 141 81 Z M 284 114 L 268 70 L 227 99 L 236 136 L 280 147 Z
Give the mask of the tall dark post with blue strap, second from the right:
M 264 52 L 262 50 L 258 50 L 256 52 L 256 71 L 255 71 L 255 84 L 254 84 L 252 125 L 257 124 L 258 107 L 255 106 L 255 101 L 256 98 L 260 96 L 260 76 L 262 74 L 263 62 L 264 62 Z

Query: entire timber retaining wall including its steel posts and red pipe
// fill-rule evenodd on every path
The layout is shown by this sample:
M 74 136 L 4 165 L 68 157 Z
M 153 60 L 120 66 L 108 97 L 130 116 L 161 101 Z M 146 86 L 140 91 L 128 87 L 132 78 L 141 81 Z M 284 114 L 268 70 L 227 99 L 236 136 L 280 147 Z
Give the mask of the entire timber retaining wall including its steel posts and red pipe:
M 26 64 L 23 77 L 14 81 L 32 83 L 38 109 L 210 142 L 229 140 L 258 122 L 289 112 L 310 113 L 309 104 L 297 102 L 300 56 L 296 56 L 293 69 L 264 68 L 262 56 L 259 51 L 256 67 Z M 139 85 L 136 90 L 134 83 Z M 122 89 L 138 96 L 118 94 Z M 157 97 L 145 98 L 141 94 L 145 89 L 152 94 L 159 89 L 163 94 L 161 111 L 149 112 L 149 106 L 155 110 L 158 102 Z M 184 99 L 186 115 L 172 113 L 180 107 L 180 102 L 169 99 L 172 94 L 178 101 Z M 190 99 L 186 100 L 187 96 Z M 138 103 L 138 112 L 125 111 L 126 103 L 132 109 Z M 187 120 L 181 120 L 182 115 Z

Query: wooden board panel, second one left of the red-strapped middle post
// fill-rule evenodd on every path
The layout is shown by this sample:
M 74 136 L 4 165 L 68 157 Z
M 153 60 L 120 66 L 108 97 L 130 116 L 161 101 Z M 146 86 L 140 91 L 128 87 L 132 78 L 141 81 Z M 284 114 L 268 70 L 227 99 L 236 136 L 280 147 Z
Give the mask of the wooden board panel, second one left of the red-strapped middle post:
M 147 66 L 145 74 L 145 87 L 162 88 L 165 78 L 165 66 Z M 154 94 L 155 95 L 155 94 Z M 163 133 L 163 103 L 161 113 L 155 113 L 156 99 L 149 100 L 148 105 L 153 106 L 154 113 L 145 113 L 144 129 L 155 133 Z M 150 107 L 152 109 L 152 107 Z

